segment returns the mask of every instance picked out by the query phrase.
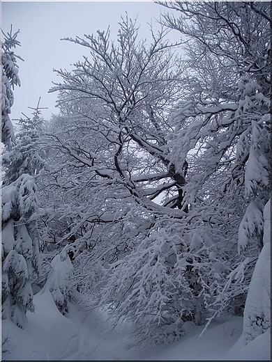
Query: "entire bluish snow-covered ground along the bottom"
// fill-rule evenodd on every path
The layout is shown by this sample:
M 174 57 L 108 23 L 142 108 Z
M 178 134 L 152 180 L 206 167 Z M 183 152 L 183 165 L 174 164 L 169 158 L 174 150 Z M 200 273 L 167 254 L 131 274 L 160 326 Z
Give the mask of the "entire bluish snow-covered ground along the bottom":
M 70 304 L 68 315 L 57 310 L 48 290 L 34 297 L 35 314 L 28 313 L 24 330 L 2 321 L 2 360 L 209 360 L 270 361 L 270 330 L 244 345 L 243 318 L 214 323 L 199 338 L 203 326 L 191 326 L 189 334 L 171 345 L 141 350 L 130 332 L 133 326 L 120 325 L 107 332 L 105 313 Z M 8 353 L 4 353 L 5 351 Z

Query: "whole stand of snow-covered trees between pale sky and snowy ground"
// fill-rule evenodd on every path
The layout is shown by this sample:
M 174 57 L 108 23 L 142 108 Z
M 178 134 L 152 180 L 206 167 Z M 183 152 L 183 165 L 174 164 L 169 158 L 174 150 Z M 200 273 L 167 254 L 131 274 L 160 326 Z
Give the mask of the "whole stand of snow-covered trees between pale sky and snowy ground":
M 58 114 L 38 102 L 17 129 L 20 33 L 3 33 L 2 321 L 24 330 L 47 290 L 137 345 L 220 317 L 248 345 L 271 327 L 271 3 L 156 3 L 151 42 L 128 14 L 114 40 L 66 38 L 89 56 L 54 70 Z

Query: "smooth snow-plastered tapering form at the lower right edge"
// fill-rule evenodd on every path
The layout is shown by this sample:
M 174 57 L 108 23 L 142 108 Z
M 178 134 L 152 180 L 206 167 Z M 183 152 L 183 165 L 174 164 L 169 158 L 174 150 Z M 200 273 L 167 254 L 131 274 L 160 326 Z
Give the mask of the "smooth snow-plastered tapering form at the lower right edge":
M 271 199 L 264 207 L 264 246 L 250 281 L 243 333 L 246 343 L 271 327 Z

